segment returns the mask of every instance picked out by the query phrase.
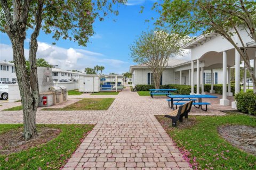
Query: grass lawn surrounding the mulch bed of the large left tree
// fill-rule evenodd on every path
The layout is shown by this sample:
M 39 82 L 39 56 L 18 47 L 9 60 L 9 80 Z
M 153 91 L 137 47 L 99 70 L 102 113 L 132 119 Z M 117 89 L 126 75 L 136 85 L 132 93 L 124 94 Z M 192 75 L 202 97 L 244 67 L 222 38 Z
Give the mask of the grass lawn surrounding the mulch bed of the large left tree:
M 21 128 L 22 124 L 1 124 L 0 133 Z M 80 145 L 93 125 L 37 125 L 60 129 L 57 138 L 28 150 L 0 155 L 0 169 L 60 169 Z

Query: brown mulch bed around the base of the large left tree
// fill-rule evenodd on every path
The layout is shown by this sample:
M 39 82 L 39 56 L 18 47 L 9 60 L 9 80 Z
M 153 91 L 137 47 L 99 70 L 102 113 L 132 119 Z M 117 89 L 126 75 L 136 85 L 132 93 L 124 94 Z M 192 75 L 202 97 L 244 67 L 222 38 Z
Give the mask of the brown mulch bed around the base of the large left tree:
M 36 147 L 56 138 L 60 129 L 37 128 L 38 137 L 25 141 L 22 137 L 23 128 L 10 130 L 0 134 L 0 155 L 8 155 L 21 150 Z

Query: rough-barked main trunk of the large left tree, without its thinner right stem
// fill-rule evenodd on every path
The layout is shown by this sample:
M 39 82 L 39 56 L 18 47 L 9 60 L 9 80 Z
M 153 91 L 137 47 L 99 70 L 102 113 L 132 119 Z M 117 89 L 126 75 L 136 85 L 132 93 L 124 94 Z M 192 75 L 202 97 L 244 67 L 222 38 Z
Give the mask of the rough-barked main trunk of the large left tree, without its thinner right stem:
M 29 140 L 37 135 L 36 131 L 36 109 L 37 100 L 31 95 L 30 80 L 26 72 L 24 56 L 24 38 L 13 37 L 13 60 L 16 68 L 16 75 L 19 83 L 21 103 L 23 106 L 24 138 Z

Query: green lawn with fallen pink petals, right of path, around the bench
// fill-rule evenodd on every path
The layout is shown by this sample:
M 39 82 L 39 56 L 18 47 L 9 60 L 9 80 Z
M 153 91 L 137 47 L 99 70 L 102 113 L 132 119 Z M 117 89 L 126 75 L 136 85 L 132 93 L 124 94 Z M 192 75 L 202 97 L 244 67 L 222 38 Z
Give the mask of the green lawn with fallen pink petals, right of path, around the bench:
M 256 118 L 242 114 L 227 116 L 195 116 L 190 128 L 172 128 L 169 118 L 156 116 L 163 128 L 180 148 L 185 148 L 196 159 L 198 169 L 256 169 L 256 157 L 233 147 L 219 136 L 218 126 L 237 124 L 256 126 Z M 188 120 L 191 121 L 191 116 Z M 169 121 L 169 125 L 166 122 Z M 193 161 L 191 161 L 192 163 Z

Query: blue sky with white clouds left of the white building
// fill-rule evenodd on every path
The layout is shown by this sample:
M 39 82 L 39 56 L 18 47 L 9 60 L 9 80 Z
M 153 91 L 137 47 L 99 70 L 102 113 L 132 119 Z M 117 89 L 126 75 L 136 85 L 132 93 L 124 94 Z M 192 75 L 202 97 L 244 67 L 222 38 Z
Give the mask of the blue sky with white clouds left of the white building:
M 153 22 L 145 23 L 146 19 L 156 17 L 158 14 L 151 10 L 154 1 L 131 0 L 126 6 L 118 8 L 119 15 L 98 20 L 93 24 L 95 35 L 90 38 L 87 47 L 78 46 L 76 42 L 59 40 L 55 46 L 51 35 L 43 31 L 38 37 L 37 57 L 43 57 L 50 64 L 58 64 L 66 70 L 84 70 L 85 67 L 103 65 L 103 73 L 115 72 L 118 74 L 129 71 L 132 62 L 129 53 L 131 45 L 142 31 L 153 27 Z M 144 12 L 139 13 L 140 7 L 145 6 Z M 113 21 L 116 20 L 116 22 Z M 12 60 L 11 43 L 7 35 L 1 33 L 0 57 L 1 60 Z M 28 36 L 29 38 L 29 36 Z M 29 39 L 25 44 L 25 55 L 28 56 Z

